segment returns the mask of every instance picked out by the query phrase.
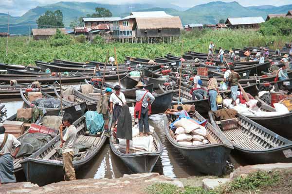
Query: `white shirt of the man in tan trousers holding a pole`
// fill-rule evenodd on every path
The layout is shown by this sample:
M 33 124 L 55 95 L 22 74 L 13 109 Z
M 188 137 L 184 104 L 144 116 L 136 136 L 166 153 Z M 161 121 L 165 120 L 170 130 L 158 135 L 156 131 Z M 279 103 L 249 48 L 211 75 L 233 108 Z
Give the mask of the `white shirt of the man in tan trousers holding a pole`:
M 62 149 L 62 154 L 74 151 L 73 146 L 75 145 L 76 142 L 76 137 L 77 135 L 77 129 L 75 128 L 74 125 L 70 125 L 66 133 L 63 137 L 63 140 L 65 141 L 63 144 L 63 149 Z

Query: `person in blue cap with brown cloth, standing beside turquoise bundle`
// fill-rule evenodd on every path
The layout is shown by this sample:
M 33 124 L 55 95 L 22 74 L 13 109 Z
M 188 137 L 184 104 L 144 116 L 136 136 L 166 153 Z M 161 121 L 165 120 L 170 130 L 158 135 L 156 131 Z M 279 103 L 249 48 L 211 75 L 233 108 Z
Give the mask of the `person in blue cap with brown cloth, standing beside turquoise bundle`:
M 106 88 L 105 94 L 102 96 L 102 99 L 98 101 L 96 106 L 96 112 L 103 115 L 103 119 L 105 120 L 105 135 L 107 137 L 110 136 L 109 131 L 109 122 L 110 122 L 110 94 L 111 94 L 111 88 Z

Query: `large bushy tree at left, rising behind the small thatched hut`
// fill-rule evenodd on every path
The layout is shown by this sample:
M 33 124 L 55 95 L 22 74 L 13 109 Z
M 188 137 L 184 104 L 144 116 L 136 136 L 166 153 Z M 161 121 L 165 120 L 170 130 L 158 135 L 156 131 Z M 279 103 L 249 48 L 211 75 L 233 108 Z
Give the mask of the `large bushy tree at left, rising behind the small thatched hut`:
M 62 28 L 63 24 L 63 14 L 60 10 L 55 12 L 46 11 L 42 16 L 39 16 L 37 19 L 38 28 Z

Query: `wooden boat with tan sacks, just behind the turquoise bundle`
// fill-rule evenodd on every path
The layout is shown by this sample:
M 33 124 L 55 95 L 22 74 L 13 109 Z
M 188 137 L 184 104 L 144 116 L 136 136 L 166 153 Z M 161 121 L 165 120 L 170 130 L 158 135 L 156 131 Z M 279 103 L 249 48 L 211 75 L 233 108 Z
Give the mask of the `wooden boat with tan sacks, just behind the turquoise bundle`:
M 61 99 L 61 96 L 59 94 L 60 91 L 57 91 L 56 88 L 54 88 L 54 91 L 55 91 L 55 95 L 58 99 Z M 79 92 L 78 90 L 76 90 L 75 88 L 73 88 L 73 94 L 74 96 L 74 101 L 71 102 L 71 101 L 67 101 L 63 98 L 63 101 L 64 102 L 68 102 L 70 104 L 79 104 L 81 102 L 85 102 L 86 103 L 86 110 L 88 111 L 96 111 L 96 105 L 98 103 L 97 99 L 94 99 L 93 97 L 89 97 L 89 96 L 86 96 L 84 94 L 82 94 L 81 92 Z

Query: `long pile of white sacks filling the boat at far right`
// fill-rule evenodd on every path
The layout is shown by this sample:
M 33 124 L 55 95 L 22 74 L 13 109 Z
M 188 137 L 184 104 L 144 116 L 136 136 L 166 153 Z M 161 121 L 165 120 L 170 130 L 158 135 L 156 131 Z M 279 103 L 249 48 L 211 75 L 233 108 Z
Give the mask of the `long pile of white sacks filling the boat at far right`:
M 289 113 L 288 108 L 284 104 L 274 103 L 275 110 L 274 112 L 265 112 L 261 111 L 259 108 L 250 109 L 245 104 L 240 104 L 239 99 L 237 99 L 237 106 L 231 104 L 231 99 L 224 99 L 223 104 L 225 107 L 230 109 L 235 109 L 237 113 L 241 113 L 245 116 L 276 116 L 281 114 Z

